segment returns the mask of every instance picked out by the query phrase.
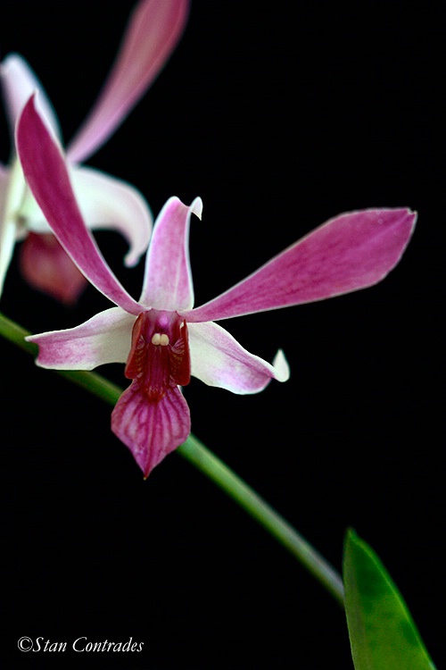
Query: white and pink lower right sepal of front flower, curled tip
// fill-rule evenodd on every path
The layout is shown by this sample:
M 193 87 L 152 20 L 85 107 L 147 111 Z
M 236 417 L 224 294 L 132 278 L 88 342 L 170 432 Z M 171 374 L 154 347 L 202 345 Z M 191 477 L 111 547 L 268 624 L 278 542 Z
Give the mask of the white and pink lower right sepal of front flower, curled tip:
M 190 323 L 191 374 L 209 386 L 233 393 L 258 393 L 271 379 L 286 381 L 290 376 L 281 350 L 271 365 L 246 351 L 217 323 Z

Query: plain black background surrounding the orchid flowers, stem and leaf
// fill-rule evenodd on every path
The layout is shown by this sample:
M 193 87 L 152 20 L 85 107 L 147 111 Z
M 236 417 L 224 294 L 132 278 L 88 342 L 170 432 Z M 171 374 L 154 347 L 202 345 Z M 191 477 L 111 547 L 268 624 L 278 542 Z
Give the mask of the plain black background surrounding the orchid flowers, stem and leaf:
M 133 2 L 7 3 L 1 54 L 24 55 L 77 130 Z M 165 71 L 88 162 L 134 183 L 153 213 L 201 196 L 195 304 L 326 219 L 409 206 L 417 230 L 380 285 L 228 321 L 292 377 L 238 397 L 192 381 L 193 431 L 341 569 L 353 526 L 445 660 L 441 421 L 443 41 L 440 4 L 194 0 Z M 6 121 L 0 159 L 7 162 Z M 97 236 L 138 296 L 143 265 Z M 75 309 L 29 289 L 16 257 L 2 311 L 30 331 Z M 343 613 L 293 557 L 174 454 L 144 482 L 111 408 L 0 343 L 3 607 L 9 666 L 352 668 Z M 103 373 L 124 384 L 122 366 Z M 440 617 L 440 618 L 439 618 Z M 21 654 L 22 635 L 144 641 L 141 654 Z

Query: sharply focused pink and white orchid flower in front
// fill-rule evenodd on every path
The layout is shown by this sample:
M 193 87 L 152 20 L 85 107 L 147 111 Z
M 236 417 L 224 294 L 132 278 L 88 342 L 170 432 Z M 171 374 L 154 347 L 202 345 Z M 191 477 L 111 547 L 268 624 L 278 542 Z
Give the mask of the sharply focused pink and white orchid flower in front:
M 416 214 L 370 209 L 341 214 L 288 247 L 210 302 L 194 308 L 188 254 L 190 206 L 171 197 L 161 210 L 146 256 L 141 297 L 122 287 L 87 230 L 61 148 L 29 100 L 17 130 L 25 178 L 54 235 L 88 281 L 116 306 L 76 328 L 30 336 L 37 364 L 91 370 L 126 363 L 132 380 L 111 415 L 111 429 L 147 476 L 190 432 L 179 387 L 191 375 L 234 393 L 256 393 L 288 379 L 279 351 L 273 364 L 246 351 L 214 321 L 299 305 L 363 289 L 384 279 L 409 242 Z

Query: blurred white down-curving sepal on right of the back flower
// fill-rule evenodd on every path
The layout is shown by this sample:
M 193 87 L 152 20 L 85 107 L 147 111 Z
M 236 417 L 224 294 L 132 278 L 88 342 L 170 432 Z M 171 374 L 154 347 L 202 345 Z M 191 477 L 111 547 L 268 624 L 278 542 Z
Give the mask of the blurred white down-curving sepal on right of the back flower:
M 125 181 L 86 167 L 70 169 L 79 209 L 90 230 L 117 230 L 128 242 L 125 264 L 132 267 L 145 254 L 153 217 L 144 197 Z

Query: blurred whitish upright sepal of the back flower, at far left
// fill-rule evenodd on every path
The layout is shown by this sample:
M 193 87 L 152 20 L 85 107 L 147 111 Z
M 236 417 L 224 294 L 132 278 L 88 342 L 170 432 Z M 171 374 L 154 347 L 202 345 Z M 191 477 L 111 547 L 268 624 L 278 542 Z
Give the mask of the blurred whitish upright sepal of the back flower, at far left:
M 19 54 L 9 54 L 0 64 L 0 77 L 4 92 L 6 112 L 13 136 L 15 124 L 21 115 L 23 107 L 29 97 L 38 91 L 38 109 L 57 138 L 61 138 L 59 121 L 48 96 L 45 94 L 40 81 L 29 67 L 29 64 Z

